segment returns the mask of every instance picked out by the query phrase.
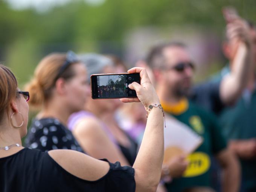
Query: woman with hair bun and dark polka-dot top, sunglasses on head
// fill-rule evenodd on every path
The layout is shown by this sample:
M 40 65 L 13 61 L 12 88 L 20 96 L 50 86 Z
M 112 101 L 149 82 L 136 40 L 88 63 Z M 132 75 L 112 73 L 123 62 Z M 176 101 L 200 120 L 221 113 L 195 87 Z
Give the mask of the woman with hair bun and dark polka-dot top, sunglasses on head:
M 30 125 L 26 146 L 83 152 L 66 123 L 70 114 L 81 110 L 88 89 L 85 67 L 75 53 L 52 53 L 43 58 L 26 85 L 31 96 L 29 105 L 40 109 Z

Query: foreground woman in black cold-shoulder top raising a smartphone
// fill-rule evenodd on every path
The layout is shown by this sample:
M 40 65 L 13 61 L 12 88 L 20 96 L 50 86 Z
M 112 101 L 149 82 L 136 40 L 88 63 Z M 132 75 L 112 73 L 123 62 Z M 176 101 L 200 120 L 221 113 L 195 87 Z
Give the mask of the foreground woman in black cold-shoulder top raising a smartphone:
M 160 104 L 146 70 L 140 73 L 141 85 L 129 85 L 145 109 Z M 73 150 L 42 152 L 23 148 L 21 138 L 27 133 L 29 94 L 18 89 L 13 73 L 0 65 L 0 191 L 155 191 L 163 161 L 163 112 L 159 107 L 149 111 L 142 145 L 133 168 L 117 162 L 96 160 Z M 26 179 L 24 179 L 26 174 Z M 15 183 L 15 184 L 14 184 Z

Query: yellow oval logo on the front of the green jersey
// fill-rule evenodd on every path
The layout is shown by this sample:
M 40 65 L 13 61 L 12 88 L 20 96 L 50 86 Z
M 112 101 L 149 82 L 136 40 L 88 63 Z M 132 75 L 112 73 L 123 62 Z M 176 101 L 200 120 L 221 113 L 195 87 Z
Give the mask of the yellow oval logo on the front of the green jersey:
M 203 152 L 194 152 L 187 156 L 189 165 L 183 174 L 183 177 L 195 177 L 206 173 L 210 168 L 210 157 Z

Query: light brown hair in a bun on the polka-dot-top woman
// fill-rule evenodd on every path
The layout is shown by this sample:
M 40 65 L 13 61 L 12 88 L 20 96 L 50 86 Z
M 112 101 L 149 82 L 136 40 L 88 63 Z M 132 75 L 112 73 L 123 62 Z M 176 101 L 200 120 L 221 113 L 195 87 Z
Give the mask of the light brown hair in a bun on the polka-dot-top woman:
M 65 53 L 51 53 L 39 62 L 33 78 L 25 86 L 25 90 L 30 94 L 29 105 L 36 108 L 41 107 L 50 98 L 58 78 L 67 80 L 75 76 L 72 65 L 77 62 L 70 64 L 58 76 L 61 67 L 66 62 L 66 57 Z

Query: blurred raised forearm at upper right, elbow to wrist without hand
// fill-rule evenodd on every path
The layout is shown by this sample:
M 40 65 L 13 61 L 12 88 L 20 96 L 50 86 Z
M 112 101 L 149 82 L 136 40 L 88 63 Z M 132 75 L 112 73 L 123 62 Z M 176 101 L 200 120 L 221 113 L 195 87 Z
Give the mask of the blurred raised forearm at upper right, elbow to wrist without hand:
M 253 69 L 251 57 L 251 47 L 241 42 L 232 63 L 231 73 L 221 82 L 220 97 L 224 104 L 233 104 L 241 96 Z

